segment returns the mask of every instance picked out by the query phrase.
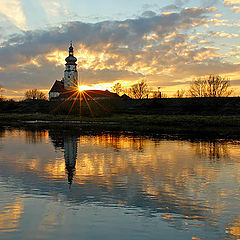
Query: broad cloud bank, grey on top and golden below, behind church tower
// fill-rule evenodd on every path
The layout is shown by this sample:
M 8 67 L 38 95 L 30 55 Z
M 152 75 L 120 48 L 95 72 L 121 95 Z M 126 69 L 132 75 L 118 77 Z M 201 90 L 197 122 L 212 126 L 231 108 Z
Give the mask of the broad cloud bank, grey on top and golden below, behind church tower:
M 214 24 L 207 16 L 215 10 L 185 8 L 160 15 L 148 11 L 136 19 L 74 21 L 16 34 L 0 48 L 0 82 L 11 89 L 50 88 L 62 78 L 70 40 L 84 84 L 134 83 L 146 77 L 152 86 L 174 86 L 179 84 L 176 80 L 184 82 L 194 74 L 237 71 L 238 65 L 223 64 L 217 47 L 207 46 L 207 41 L 203 47 L 197 34 L 192 37 L 198 27 Z

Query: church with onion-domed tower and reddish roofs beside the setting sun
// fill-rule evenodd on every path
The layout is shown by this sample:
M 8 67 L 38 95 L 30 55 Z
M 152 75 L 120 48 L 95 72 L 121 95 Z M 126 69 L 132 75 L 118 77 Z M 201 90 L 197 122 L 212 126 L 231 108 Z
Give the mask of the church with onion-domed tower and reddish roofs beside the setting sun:
M 51 90 L 49 91 L 49 100 L 75 100 L 74 92 L 78 91 L 78 71 L 77 58 L 73 55 L 73 46 L 70 42 L 69 55 L 65 59 L 64 76 L 61 81 L 56 80 Z M 85 98 L 87 100 L 100 100 L 109 98 L 120 98 L 118 94 L 109 92 L 108 90 L 85 90 Z

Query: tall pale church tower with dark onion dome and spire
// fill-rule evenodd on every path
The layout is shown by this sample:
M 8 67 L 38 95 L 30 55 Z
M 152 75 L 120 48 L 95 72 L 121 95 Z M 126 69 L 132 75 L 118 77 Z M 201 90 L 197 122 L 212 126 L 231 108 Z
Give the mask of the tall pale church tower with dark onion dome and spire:
M 72 41 L 69 47 L 69 56 L 65 59 L 65 71 L 63 77 L 64 89 L 72 90 L 78 86 L 77 58 L 73 56 Z

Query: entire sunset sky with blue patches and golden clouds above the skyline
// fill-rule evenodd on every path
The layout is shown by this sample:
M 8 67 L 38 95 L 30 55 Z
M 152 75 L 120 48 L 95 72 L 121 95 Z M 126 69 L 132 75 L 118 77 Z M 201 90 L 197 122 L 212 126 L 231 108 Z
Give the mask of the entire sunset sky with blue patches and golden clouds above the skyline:
M 240 0 L 0 0 L 0 85 L 8 98 L 48 92 L 69 42 L 95 89 L 145 79 L 169 97 L 199 76 L 240 95 Z

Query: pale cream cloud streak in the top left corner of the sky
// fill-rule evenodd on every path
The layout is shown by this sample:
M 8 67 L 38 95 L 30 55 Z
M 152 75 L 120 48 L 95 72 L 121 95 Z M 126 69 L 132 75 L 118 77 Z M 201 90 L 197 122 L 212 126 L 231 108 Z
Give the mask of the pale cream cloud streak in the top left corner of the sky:
M 26 17 L 20 1 L 1 0 L 0 14 L 6 16 L 19 29 L 26 30 Z

